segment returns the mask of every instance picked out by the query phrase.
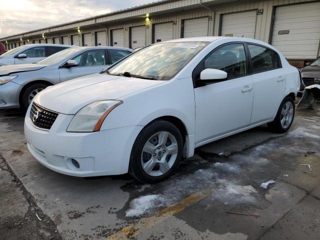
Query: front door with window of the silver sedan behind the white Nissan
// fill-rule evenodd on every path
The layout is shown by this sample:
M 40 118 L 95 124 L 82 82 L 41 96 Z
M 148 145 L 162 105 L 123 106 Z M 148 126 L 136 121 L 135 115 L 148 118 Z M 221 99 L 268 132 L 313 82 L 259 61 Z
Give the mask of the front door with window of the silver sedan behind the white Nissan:
M 103 70 L 108 64 L 106 49 L 90 49 L 71 58 L 78 62 L 77 66 L 66 68 L 59 67 L 60 81 L 67 81 L 76 77 L 92 74 Z

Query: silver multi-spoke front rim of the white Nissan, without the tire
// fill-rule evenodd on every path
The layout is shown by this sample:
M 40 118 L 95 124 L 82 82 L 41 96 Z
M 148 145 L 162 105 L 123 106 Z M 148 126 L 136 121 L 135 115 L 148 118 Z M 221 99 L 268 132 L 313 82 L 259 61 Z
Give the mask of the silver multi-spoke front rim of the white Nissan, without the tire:
M 175 137 L 167 131 L 157 132 L 142 148 L 142 168 L 150 176 L 161 176 L 173 166 L 177 154 L 178 144 Z

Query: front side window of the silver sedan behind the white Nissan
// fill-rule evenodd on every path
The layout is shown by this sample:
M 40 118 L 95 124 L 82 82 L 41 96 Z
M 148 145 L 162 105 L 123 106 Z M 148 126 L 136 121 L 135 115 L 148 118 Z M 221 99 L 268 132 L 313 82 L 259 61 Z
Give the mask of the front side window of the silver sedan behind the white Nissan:
M 78 66 L 99 66 L 105 65 L 104 49 L 92 49 L 84 51 L 71 58 L 78 62 Z

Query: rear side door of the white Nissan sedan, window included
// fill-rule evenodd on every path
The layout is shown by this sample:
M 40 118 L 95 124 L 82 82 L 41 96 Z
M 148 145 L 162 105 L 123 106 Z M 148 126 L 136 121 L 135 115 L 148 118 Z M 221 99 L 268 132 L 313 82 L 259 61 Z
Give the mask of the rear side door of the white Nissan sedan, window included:
M 286 79 L 276 52 L 257 44 L 247 45 L 254 83 L 252 125 L 274 118 L 284 97 Z

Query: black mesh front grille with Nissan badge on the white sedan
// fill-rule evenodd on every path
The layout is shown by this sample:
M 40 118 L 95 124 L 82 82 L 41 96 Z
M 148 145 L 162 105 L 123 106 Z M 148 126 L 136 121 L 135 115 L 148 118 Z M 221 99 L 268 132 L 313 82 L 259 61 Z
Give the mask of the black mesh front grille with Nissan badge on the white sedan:
M 49 130 L 57 116 L 57 112 L 47 110 L 34 102 L 32 103 L 30 119 L 35 126 Z

